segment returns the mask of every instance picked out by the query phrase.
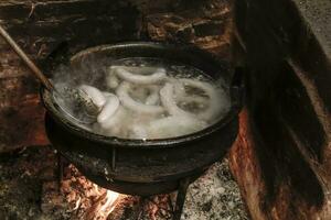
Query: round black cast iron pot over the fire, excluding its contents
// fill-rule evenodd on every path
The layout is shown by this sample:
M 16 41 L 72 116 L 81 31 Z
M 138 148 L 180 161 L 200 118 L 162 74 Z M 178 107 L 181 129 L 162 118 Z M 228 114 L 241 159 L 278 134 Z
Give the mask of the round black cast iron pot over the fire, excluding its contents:
M 74 55 L 71 63 L 126 57 L 157 57 L 193 66 L 215 80 L 223 78 L 231 97 L 231 110 L 213 125 L 189 135 L 125 140 L 95 134 L 75 125 L 56 108 L 47 90 L 42 89 L 41 97 L 47 110 L 47 136 L 62 155 L 103 187 L 140 196 L 174 190 L 180 179 L 192 177 L 193 180 L 220 161 L 236 139 L 243 90 L 238 80 L 241 75 L 235 74 L 227 62 L 193 45 L 156 42 L 87 48 Z

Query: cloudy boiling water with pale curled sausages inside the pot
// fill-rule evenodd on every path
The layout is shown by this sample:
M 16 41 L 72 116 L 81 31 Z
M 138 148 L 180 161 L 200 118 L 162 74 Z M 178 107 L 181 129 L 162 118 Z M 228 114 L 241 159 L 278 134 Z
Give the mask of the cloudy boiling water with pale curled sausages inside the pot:
M 85 129 L 122 139 L 167 139 L 203 130 L 229 110 L 227 89 L 201 70 L 152 58 L 104 64 L 98 84 L 79 84 L 103 108 Z M 100 80 L 102 79 L 102 80 Z

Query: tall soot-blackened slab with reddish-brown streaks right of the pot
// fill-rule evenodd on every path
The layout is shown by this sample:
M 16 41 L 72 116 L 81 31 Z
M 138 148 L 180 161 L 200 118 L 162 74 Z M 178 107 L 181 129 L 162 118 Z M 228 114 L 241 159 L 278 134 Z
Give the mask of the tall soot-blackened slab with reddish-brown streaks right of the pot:
M 253 219 L 331 219 L 330 10 L 237 1 L 247 89 L 229 158 Z

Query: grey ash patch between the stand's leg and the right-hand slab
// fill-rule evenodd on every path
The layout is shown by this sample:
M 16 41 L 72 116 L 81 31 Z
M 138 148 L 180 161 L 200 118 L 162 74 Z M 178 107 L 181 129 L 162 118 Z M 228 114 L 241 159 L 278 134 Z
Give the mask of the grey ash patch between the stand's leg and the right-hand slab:
M 228 161 L 214 164 L 190 185 L 182 220 L 248 220 Z

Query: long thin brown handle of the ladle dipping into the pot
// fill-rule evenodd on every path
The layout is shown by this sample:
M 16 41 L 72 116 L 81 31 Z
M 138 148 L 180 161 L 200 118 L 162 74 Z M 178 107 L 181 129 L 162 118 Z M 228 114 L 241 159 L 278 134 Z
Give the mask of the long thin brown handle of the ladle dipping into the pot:
M 42 70 L 29 58 L 29 56 L 21 50 L 21 47 L 14 42 L 14 40 L 9 35 L 9 33 L 0 25 L 0 34 L 6 40 L 6 42 L 11 46 L 11 48 L 20 56 L 21 59 L 26 64 L 26 66 L 32 70 L 32 73 L 40 79 L 40 81 L 50 91 L 54 90 L 51 81 L 45 77 Z

